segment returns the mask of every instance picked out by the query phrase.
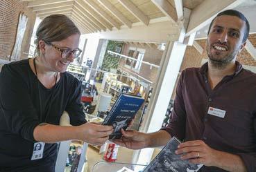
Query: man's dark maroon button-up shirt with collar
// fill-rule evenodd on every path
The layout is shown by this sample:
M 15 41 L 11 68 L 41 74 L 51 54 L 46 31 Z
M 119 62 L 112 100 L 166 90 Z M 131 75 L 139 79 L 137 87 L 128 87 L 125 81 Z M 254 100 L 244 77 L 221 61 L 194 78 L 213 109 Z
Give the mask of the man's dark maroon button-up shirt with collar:
M 180 140 L 203 140 L 219 151 L 239 155 L 248 172 L 256 171 L 256 74 L 239 62 L 233 75 L 214 89 L 207 79 L 207 63 L 182 72 L 170 124 L 162 128 Z M 208 114 L 209 108 L 225 111 L 225 117 Z M 203 166 L 202 172 L 224 170 Z

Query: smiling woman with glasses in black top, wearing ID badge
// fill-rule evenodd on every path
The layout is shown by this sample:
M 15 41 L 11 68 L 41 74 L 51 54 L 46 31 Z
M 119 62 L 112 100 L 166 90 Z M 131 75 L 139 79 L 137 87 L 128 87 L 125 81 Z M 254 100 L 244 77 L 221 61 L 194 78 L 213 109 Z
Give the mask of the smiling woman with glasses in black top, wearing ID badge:
M 78 79 L 65 73 L 81 53 L 80 32 L 65 15 L 37 28 L 37 56 L 3 66 L 0 74 L 0 171 L 55 171 L 57 144 L 103 144 L 112 126 L 86 122 Z M 67 111 L 71 125 L 59 126 Z M 35 149 L 40 144 L 41 149 Z

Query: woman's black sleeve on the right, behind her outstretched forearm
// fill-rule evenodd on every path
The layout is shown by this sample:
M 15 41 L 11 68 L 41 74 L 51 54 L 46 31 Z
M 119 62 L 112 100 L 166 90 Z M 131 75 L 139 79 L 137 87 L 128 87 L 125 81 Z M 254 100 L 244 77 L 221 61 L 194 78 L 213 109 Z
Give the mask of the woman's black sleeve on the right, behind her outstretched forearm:
M 70 124 L 79 126 L 85 124 L 85 113 L 83 113 L 83 104 L 81 104 L 81 86 L 78 79 L 74 79 L 74 93 L 71 94 L 65 111 L 69 113 Z

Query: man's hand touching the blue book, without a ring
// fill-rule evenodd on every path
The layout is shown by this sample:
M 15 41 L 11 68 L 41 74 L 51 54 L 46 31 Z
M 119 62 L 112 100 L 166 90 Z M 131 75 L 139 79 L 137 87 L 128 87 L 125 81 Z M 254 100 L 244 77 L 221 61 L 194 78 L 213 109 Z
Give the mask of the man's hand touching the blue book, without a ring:
M 131 130 L 123 131 L 123 129 L 121 129 L 121 133 L 123 137 L 118 140 L 112 140 L 112 142 L 128 149 L 143 149 L 147 146 L 146 133 Z

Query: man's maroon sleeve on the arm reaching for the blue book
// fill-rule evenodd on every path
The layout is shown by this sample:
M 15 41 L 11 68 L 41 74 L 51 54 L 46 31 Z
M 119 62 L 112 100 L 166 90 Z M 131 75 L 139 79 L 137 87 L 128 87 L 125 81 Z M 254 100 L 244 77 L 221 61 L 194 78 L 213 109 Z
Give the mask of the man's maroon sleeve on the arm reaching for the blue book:
M 186 111 L 184 99 L 182 96 L 182 83 L 184 81 L 184 72 L 180 75 L 176 88 L 176 98 L 173 102 L 173 111 L 171 112 L 171 121 L 160 130 L 167 131 L 171 136 L 183 140 L 185 137 Z

